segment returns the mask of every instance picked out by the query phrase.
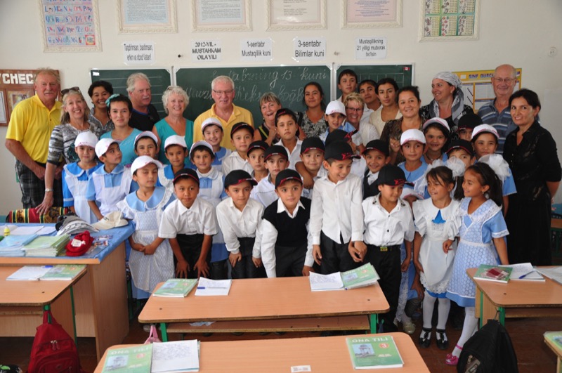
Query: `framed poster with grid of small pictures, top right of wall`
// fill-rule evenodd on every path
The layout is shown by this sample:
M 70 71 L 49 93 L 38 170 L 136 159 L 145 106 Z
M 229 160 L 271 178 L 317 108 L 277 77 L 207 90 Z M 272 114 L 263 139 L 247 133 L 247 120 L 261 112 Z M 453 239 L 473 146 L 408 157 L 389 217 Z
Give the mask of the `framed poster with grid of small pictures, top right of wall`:
M 480 0 L 421 1 L 419 41 L 478 39 Z

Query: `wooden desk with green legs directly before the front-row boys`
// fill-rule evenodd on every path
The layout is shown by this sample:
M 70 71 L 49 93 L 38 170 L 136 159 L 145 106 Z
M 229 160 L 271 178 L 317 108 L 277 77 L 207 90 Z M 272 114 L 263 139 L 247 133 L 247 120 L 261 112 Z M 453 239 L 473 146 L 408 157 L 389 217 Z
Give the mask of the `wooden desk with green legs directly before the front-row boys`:
M 160 286 L 162 283 L 156 289 Z M 377 313 L 387 310 L 388 302 L 379 284 L 311 292 L 308 277 L 276 277 L 233 280 L 228 296 L 195 296 L 195 289 L 185 298 L 150 296 L 138 321 L 161 323 L 162 339 L 167 340 L 169 322 L 371 315 L 371 332 L 375 333 Z

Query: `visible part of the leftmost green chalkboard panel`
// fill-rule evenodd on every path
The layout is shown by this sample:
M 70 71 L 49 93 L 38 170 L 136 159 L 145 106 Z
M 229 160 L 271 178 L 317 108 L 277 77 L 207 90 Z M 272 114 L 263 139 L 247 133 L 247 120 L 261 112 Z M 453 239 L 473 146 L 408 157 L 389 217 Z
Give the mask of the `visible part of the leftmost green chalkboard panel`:
M 113 86 L 113 93 L 127 94 L 127 78 L 133 72 L 143 72 L 150 79 L 152 105 L 155 105 L 160 118 L 166 117 L 162 105 L 162 93 L 171 84 L 171 73 L 167 69 L 134 69 L 134 70 L 90 70 L 92 83 L 98 80 L 109 81 Z

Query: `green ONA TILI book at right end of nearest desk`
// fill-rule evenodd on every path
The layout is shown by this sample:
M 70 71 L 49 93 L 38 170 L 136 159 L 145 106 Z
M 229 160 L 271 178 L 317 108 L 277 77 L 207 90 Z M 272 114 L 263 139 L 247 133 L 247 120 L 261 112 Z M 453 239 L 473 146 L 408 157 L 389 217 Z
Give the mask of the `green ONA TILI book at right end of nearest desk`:
M 346 338 L 355 369 L 399 368 L 404 362 L 392 336 Z

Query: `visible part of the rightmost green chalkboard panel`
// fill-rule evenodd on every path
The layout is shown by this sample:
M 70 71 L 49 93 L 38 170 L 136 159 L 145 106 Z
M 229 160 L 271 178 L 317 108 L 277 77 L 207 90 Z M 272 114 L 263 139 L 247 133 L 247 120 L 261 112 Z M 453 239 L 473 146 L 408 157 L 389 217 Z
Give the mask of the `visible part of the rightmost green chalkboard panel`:
M 334 81 L 336 81 L 336 88 L 339 73 L 346 69 L 355 71 L 355 74 L 358 76 L 358 84 L 365 79 L 379 81 L 386 77 L 396 80 L 400 88 L 412 84 L 412 65 L 341 65 L 335 73 Z M 341 96 L 339 89 L 337 89 L 337 96 Z

